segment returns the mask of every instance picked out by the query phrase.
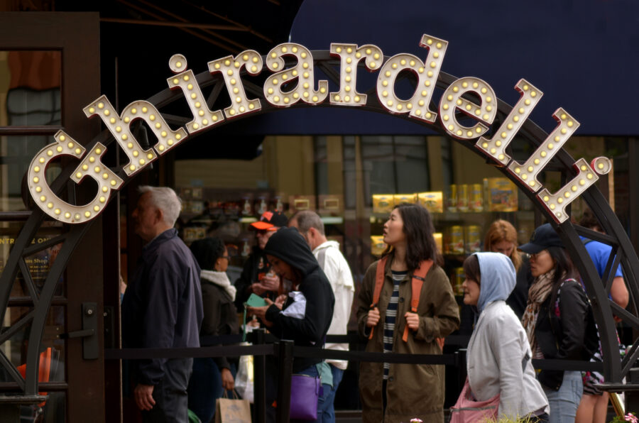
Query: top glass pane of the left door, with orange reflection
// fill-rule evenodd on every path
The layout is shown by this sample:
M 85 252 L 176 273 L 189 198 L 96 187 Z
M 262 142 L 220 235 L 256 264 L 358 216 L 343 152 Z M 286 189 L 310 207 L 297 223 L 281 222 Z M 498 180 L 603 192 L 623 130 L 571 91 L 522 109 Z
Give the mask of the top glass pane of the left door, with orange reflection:
M 0 126 L 60 126 L 60 51 L 0 51 Z

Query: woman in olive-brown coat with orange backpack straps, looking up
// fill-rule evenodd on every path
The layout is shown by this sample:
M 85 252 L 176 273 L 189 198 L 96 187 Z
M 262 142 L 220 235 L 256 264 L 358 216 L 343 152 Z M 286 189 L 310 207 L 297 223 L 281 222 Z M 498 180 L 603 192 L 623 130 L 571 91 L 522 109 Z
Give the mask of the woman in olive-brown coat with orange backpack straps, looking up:
M 441 354 L 437 339 L 459 326 L 433 232 L 430 214 L 416 204 L 395 207 L 384 224 L 388 247 L 366 270 L 358 295 L 366 351 Z M 359 389 L 364 422 L 444 421 L 444 366 L 362 362 Z

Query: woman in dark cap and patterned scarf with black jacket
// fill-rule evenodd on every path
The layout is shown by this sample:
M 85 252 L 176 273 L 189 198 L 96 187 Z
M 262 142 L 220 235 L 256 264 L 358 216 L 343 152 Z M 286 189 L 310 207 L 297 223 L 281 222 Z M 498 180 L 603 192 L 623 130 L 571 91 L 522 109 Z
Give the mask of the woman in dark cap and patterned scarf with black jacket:
M 532 358 L 589 360 L 592 346 L 584 341 L 592 311 L 557 232 L 550 224 L 539 226 L 519 249 L 530 254 L 535 278 L 522 318 Z M 584 390 L 581 372 L 541 370 L 537 378 L 550 404 L 550 423 L 574 422 Z

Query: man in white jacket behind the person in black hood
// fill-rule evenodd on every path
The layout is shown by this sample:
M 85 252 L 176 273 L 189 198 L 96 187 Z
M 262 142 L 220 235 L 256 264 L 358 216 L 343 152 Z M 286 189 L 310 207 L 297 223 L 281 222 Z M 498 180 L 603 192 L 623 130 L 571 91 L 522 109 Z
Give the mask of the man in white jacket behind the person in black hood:
M 351 306 L 353 304 L 353 296 L 355 285 L 349 263 L 339 251 L 339 243 L 337 241 L 328 241 L 324 233 L 324 222 L 322 218 L 310 210 L 297 212 L 291 216 L 288 226 L 294 226 L 300 231 L 305 238 L 306 243 L 313 252 L 313 256 L 317 258 L 320 267 L 324 270 L 335 295 L 335 307 L 333 311 L 333 319 L 329 326 L 329 335 L 346 335 L 346 326 L 348 326 L 351 317 Z M 348 351 L 349 344 L 326 344 L 325 348 Z M 337 387 L 342 381 L 344 370 L 348 366 L 348 361 L 343 360 L 327 360 L 331 372 L 333 374 L 333 388 L 330 395 L 326 397 L 324 402 L 327 408 L 324 411 L 324 423 L 335 422 L 334 400 Z

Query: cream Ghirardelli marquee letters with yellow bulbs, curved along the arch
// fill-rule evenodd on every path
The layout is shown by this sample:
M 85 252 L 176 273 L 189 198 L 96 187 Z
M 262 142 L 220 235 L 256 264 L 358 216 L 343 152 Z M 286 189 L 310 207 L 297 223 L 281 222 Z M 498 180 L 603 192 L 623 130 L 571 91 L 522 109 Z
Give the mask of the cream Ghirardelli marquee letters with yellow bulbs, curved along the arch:
M 326 80 L 315 81 L 313 57 L 307 48 L 295 43 L 276 46 L 266 55 L 266 67 L 272 75 L 263 84 L 264 98 L 276 107 L 290 107 L 302 101 L 307 104 L 321 104 L 329 101 L 336 106 L 363 106 L 366 94 L 356 91 L 357 69 L 360 62 L 369 72 L 378 72 L 376 91 L 381 106 L 391 114 L 408 114 L 410 118 L 432 125 L 441 124 L 450 136 L 461 140 L 474 140 L 482 153 L 507 168 L 513 177 L 537 193 L 540 204 L 548 209 L 555 221 L 568 219 L 565 208 L 579 194 L 599 179 L 599 175 L 611 169 L 610 160 L 596 158 L 591 163 L 579 159 L 574 163 L 577 176 L 551 194 L 537 180 L 537 175 L 562 145 L 577 130 L 579 123 L 564 109 L 557 109 L 553 116 L 557 127 L 540 145 L 525 163 L 512 160 L 506 154 L 506 148 L 515 134 L 523 126 L 542 92 L 532 84 L 521 79 L 515 89 L 520 99 L 498 130 L 493 131 L 491 139 L 485 138 L 497 114 L 497 96 L 490 85 L 479 78 L 463 77 L 452 82 L 441 96 L 439 108 L 430 109 L 435 92 L 439 70 L 442 67 L 447 41 L 430 35 L 423 35 L 420 46 L 427 50 L 427 57 L 401 53 L 384 62 L 380 48 L 375 45 L 331 44 L 330 53 L 340 60 L 340 82 L 337 92 L 329 92 Z M 293 66 L 285 67 L 283 57 L 295 58 Z M 244 90 L 240 72 L 246 70 L 249 75 L 258 75 L 265 65 L 263 58 L 254 50 L 246 50 L 236 57 L 227 56 L 208 63 L 209 72 L 222 75 L 231 104 L 224 110 L 209 110 L 192 70 L 187 70 L 187 61 L 182 55 L 173 55 L 169 60 L 170 70 L 175 74 L 167 79 L 171 89 L 181 89 L 193 115 L 192 121 L 185 127 L 172 129 L 163 119 L 160 111 L 148 101 L 133 101 L 121 114 L 111 105 L 107 97 L 99 97 L 84 108 L 87 117 L 99 116 L 113 134 L 120 148 L 124 150 L 129 163 L 124 166 L 124 174 L 131 177 L 144 167 L 165 154 L 171 148 L 184 142 L 190 135 L 207 131 L 219 125 L 225 119 L 237 119 L 261 110 L 260 99 L 249 99 Z M 400 99 L 395 94 L 395 79 L 400 72 L 413 72 L 417 87 L 410 99 Z M 295 87 L 288 89 L 290 82 Z M 285 84 L 287 85 L 285 89 Z M 473 94 L 469 96 L 467 94 Z M 479 99 L 479 101 L 476 101 Z M 471 119 L 473 126 L 459 123 L 457 114 Z M 438 119 L 439 118 L 439 119 Z M 130 131 L 133 121 L 142 119 L 151 128 L 158 142 L 147 150 L 143 149 Z M 55 134 L 55 143 L 47 145 L 35 155 L 28 170 L 28 185 L 35 203 L 46 214 L 59 221 L 80 224 L 94 219 L 106 206 L 112 190 L 119 189 L 124 182 L 107 166 L 102 164 L 102 155 L 106 149 L 96 143 L 87 151 L 80 143 L 64 131 Z M 44 174 L 48 163 L 62 155 L 72 155 L 80 159 L 72 180 L 80 182 L 90 177 L 98 184 L 98 192 L 92 202 L 83 206 L 68 204 L 58 198 L 48 186 Z

